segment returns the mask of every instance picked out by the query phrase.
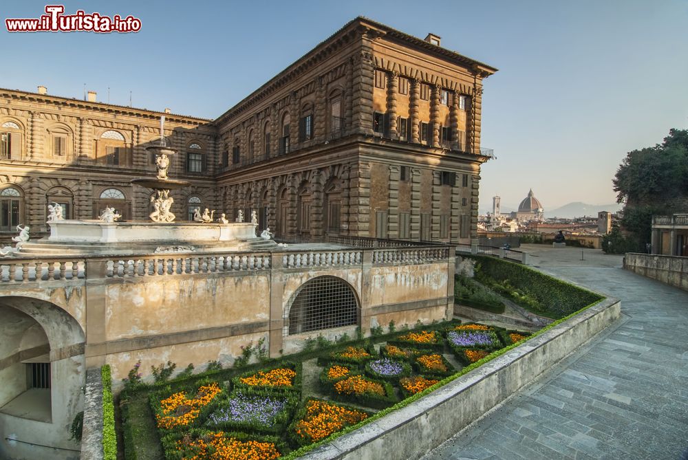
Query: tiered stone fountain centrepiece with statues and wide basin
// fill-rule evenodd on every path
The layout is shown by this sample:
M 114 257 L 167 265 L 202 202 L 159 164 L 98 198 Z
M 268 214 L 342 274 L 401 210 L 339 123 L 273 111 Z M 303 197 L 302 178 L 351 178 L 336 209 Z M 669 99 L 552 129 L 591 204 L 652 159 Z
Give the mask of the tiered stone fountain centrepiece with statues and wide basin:
M 153 212 L 149 215 L 153 222 L 173 222 L 175 215 L 171 211 L 174 199 L 170 195 L 170 190 L 186 187 L 190 182 L 175 180 L 167 177 L 167 169 L 170 164 L 170 156 L 177 153 L 175 149 L 170 149 L 165 143 L 165 116 L 160 117 L 160 145 L 146 147 L 149 152 L 155 153 L 155 166 L 158 168 L 158 175 L 155 179 L 133 179 L 132 184 L 140 185 L 155 190 L 155 196 L 151 197 Z

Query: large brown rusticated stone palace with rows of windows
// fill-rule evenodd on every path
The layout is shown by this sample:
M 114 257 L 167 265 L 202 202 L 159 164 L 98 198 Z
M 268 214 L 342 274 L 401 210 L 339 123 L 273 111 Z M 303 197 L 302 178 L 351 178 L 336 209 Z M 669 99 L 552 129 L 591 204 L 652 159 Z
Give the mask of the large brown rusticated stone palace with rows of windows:
M 286 241 L 476 237 L 482 80 L 496 69 L 356 18 L 216 120 L 166 114 L 176 215 L 259 210 Z M 163 113 L 0 90 L 0 240 L 47 230 L 47 204 L 145 219 Z M 246 214 L 248 215 L 248 214 Z

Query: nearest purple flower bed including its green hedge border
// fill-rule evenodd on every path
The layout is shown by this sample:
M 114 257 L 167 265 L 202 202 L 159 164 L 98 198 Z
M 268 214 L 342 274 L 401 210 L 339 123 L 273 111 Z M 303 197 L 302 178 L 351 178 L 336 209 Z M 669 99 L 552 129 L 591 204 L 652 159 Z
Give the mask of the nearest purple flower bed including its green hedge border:
M 239 388 L 217 401 L 206 425 L 217 430 L 268 432 L 279 435 L 289 424 L 299 399 L 293 392 Z

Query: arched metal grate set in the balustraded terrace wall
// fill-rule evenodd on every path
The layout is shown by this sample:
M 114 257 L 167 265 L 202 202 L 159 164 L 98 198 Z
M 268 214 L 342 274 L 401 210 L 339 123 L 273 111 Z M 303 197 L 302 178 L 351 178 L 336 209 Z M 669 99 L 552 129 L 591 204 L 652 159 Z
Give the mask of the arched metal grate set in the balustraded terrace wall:
M 354 289 L 335 276 L 318 276 L 297 291 L 284 335 L 358 324 Z

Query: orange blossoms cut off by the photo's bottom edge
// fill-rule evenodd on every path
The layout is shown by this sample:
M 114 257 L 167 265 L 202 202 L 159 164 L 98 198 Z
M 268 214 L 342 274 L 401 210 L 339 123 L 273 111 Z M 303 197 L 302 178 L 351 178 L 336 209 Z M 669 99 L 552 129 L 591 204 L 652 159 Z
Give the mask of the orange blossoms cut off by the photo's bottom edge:
M 177 448 L 194 453 L 192 457 L 182 457 L 183 460 L 275 460 L 281 457 L 271 442 L 239 441 L 225 437 L 224 432 L 211 432 L 190 443 L 182 439 L 177 442 Z

